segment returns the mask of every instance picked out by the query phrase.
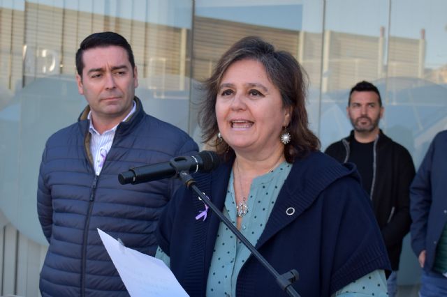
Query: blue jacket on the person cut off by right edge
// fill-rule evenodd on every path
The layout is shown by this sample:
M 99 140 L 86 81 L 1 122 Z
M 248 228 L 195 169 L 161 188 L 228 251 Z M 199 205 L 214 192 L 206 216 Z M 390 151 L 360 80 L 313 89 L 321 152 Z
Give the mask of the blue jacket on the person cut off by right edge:
M 411 246 L 419 256 L 426 250 L 425 266 L 430 271 L 442 230 L 447 223 L 447 130 L 439 132 L 411 183 Z

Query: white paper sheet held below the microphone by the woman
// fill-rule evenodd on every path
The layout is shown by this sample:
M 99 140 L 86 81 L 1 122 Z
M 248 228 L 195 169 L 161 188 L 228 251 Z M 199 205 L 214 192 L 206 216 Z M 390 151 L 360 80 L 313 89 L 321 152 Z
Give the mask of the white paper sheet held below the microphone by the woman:
M 132 297 L 188 296 L 163 261 L 126 248 L 99 228 L 98 233 Z

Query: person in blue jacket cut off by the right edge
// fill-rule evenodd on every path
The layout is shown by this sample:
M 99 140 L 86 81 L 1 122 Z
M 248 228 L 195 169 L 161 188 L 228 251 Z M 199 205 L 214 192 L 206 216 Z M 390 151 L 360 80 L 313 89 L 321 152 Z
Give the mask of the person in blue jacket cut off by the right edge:
M 428 148 L 411 183 L 411 246 L 423 268 L 419 296 L 447 296 L 447 130 Z

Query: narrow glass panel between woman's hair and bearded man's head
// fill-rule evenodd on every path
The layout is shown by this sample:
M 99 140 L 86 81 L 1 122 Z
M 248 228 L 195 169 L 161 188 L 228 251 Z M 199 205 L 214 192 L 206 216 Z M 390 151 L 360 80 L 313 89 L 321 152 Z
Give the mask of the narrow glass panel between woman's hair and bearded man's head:
M 319 134 L 323 150 L 351 130 L 345 111 L 351 87 L 386 77 L 388 10 L 383 0 L 326 2 Z

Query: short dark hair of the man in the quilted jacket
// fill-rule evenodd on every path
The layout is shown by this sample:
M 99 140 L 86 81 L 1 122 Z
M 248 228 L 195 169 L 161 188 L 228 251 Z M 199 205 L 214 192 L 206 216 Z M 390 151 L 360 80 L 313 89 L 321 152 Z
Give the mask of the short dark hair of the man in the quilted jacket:
M 94 47 L 109 47 L 111 45 L 116 45 L 118 47 L 124 48 L 127 52 L 129 62 L 131 63 L 132 70 L 135 68 L 135 60 L 133 59 L 133 52 L 131 45 L 127 42 L 126 38 L 115 32 L 99 32 L 93 33 L 87 36 L 80 44 L 78 52 L 76 52 L 76 70 L 78 75 L 82 77 L 82 70 L 84 69 L 84 62 L 82 61 L 82 54 L 89 49 Z

